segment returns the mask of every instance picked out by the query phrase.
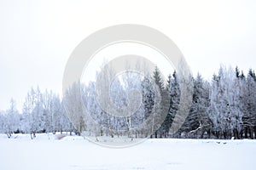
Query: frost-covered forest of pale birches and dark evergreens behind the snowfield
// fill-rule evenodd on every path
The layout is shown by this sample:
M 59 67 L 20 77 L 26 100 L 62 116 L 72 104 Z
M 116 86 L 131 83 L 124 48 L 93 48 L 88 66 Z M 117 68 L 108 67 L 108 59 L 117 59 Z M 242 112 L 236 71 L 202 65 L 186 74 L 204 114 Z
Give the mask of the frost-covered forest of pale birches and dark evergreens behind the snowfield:
M 36 138 L 37 133 L 56 132 L 140 138 L 147 137 L 148 131 L 143 128 L 134 129 L 154 112 L 155 119 L 165 115 L 165 120 L 150 135 L 151 138 L 256 138 L 256 76 L 252 69 L 244 74 L 238 67 L 233 69 L 222 65 L 210 82 L 200 74 L 194 77 L 189 116 L 178 132 L 172 133 L 170 128 L 180 99 L 178 80 L 179 75 L 174 71 L 164 82 L 158 68 L 148 77 L 131 73 L 116 78 L 110 91 L 115 105 L 128 105 L 127 94 L 131 89 L 137 89 L 142 94 L 142 104 L 137 112 L 126 117 L 116 117 L 102 111 L 96 99 L 96 82 L 86 85 L 74 83 L 63 99 L 52 91 L 42 92 L 40 88 L 31 88 L 21 112 L 16 109 L 14 99 L 10 100 L 7 111 L 1 111 L 0 133 L 6 133 L 9 138 L 13 133 L 31 133 L 32 139 Z M 160 89 L 162 102 L 167 104 L 165 111 L 168 112 L 165 114 L 161 109 L 153 111 L 153 81 Z M 80 95 L 76 94 L 78 89 L 82 103 Z M 90 116 L 83 113 L 82 107 L 90 112 Z

